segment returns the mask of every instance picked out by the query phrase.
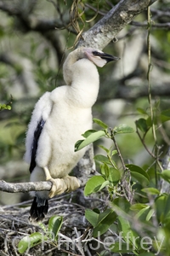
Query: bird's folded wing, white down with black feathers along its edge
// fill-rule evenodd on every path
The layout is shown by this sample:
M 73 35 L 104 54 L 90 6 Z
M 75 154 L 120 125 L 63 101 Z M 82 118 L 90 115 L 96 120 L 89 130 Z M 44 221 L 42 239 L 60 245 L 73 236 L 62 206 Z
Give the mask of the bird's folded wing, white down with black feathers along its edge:
M 50 99 L 50 92 L 46 92 L 39 99 L 33 110 L 31 122 L 26 132 L 26 154 L 24 157 L 26 162 L 30 164 L 30 172 L 32 172 L 36 166 L 38 139 L 52 108 L 53 102 Z

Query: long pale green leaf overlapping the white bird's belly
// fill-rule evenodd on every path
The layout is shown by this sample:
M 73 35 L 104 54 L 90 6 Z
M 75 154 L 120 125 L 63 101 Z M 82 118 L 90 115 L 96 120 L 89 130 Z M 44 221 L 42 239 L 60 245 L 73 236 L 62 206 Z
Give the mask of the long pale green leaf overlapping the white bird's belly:
M 105 131 L 94 131 L 85 140 L 80 140 L 75 144 L 75 151 L 78 151 L 91 143 L 99 140 L 100 137 L 105 137 Z

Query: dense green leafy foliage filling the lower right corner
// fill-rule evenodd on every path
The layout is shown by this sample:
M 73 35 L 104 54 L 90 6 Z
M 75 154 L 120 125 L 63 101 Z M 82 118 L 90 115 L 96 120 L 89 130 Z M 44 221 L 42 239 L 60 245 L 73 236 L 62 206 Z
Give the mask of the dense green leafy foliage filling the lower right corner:
M 115 137 L 126 132 L 133 132 L 133 129 L 128 125 L 119 125 L 109 129 L 108 125 L 99 119 L 94 119 L 94 122 L 103 128 L 99 130 L 102 131 L 103 137 L 111 139 L 116 147 L 113 150 L 113 146 L 105 148 L 99 145 L 106 155 L 94 156 L 94 160 L 99 164 L 99 174 L 90 177 L 84 189 L 86 196 L 102 192 L 107 192 L 109 195 L 109 203 L 104 211 L 100 212 L 98 208 L 85 211 L 85 217 L 93 226 L 94 238 L 99 239 L 99 236 L 104 234 L 107 237 L 106 234 L 114 229 L 116 236 L 113 236 L 113 243 L 110 245 L 112 253 L 122 253 L 123 255 L 132 253 L 142 256 L 153 256 L 160 253 L 161 255 L 170 255 L 167 249 L 170 227 L 170 195 L 161 193 L 161 189 L 156 183 L 157 177 L 153 183 L 149 170 L 145 171 L 140 166 L 124 162 L 120 168 L 114 160 L 117 153 L 121 154 Z M 137 129 L 143 134 L 151 129 L 151 125 L 146 124 L 146 119 L 139 119 L 136 122 Z M 95 140 L 97 138 L 94 136 L 96 132 L 86 132 L 84 141 L 92 143 L 94 138 Z M 82 145 L 85 146 L 85 144 Z M 122 156 L 119 156 L 122 159 Z M 158 174 L 159 177 L 170 183 L 168 170 L 158 172 Z

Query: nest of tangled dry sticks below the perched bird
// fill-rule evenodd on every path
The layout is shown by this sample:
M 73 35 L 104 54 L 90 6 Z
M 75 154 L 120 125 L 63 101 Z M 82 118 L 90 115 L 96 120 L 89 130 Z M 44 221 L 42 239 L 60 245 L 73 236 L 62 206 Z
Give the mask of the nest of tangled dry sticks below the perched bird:
M 18 243 L 34 232 L 43 234 L 40 225 L 29 221 L 30 201 L 24 201 L 13 206 L 0 207 L 0 256 L 19 256 Z M 23 255 L 97 255 L 96 251 L 88 249 L 88 242 L 93 242 L 92 227 L 85 218 L 86 208 L 103 209 L 105 200 L 85 198 L 82 189 L 54 197 L 49 200 L 49 209 L 43 224 L 48 227 L 49 218 L 54 215 L 63 217 L 59 230 L 58 241 L 42 241 L 29 248 Z M 95 241 L 94 241 L 95 242 Z

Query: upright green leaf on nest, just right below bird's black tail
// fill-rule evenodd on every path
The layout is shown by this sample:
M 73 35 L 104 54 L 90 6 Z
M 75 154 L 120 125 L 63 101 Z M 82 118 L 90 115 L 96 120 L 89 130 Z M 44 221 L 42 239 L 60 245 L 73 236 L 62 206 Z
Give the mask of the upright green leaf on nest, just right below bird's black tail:
M 50 237 L 54 240 L 57 239 L 57 234 L 59 233 L 62 223 L 63 217 L 61 216 L 54 215 L 53 217 L 49 218 L 48 232 L 50 234 Z

